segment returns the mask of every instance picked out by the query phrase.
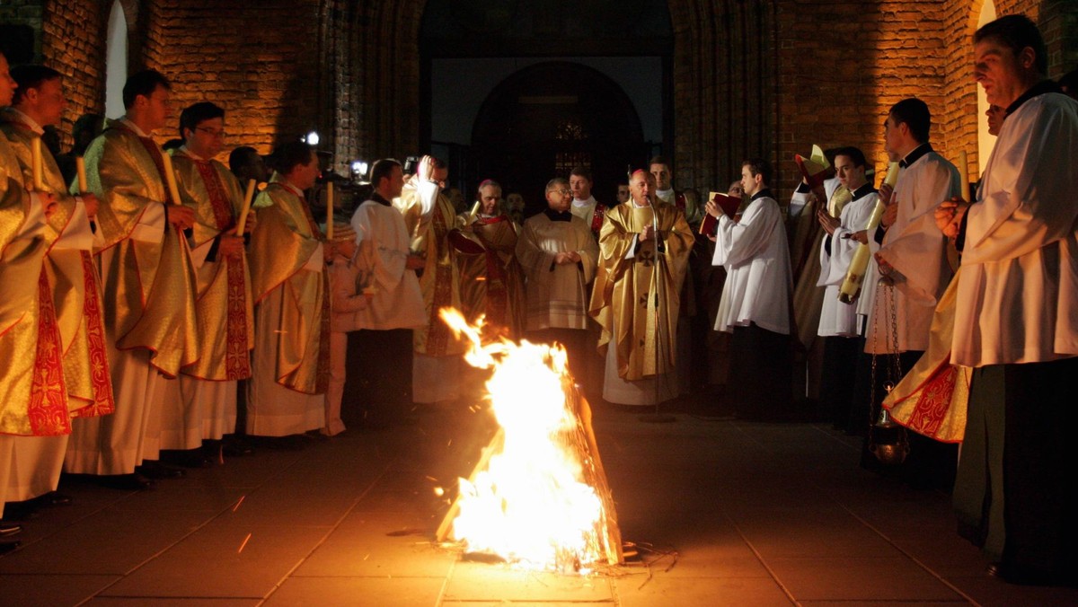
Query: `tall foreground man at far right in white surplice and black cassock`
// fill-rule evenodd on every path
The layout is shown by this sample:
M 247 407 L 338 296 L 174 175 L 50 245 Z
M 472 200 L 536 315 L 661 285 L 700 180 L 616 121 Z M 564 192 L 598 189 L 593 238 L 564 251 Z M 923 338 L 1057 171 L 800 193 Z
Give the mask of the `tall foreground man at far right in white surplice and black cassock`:
M 990 572 L 1074 585 L 1078 102 L 1045 80 L 1028 18 L 973 40 L 975 75 L 1007 118 L 976 199 L 936 213 L 962 251 L 951 362 L 973 368 L 955 511 Z

